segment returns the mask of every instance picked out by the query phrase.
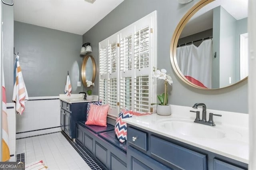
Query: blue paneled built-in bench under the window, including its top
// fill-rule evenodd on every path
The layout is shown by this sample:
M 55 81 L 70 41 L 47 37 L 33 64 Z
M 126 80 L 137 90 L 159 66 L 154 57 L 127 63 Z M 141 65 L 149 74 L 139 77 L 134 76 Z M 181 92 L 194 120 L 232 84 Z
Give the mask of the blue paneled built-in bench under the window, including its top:
M 89 150 L 107 169 L 126 169 L 126 142 L 118 141 L 113 125 L 100 127 L 77 122 L 76 142 Z

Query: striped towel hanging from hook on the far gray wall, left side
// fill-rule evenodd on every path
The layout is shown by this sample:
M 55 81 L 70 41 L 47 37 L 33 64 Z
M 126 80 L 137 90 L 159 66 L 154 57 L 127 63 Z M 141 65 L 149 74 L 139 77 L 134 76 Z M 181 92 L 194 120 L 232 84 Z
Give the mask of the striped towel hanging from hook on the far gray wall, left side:
M 16 102 L 16 111 L 22 115 L 25 110 L 25 102 L 28 100 L 28 92 L 22 77 L 18 55 L 16 56 L 14 72 L 16 73 L 16 79 L 14 81 L 12 101 Z

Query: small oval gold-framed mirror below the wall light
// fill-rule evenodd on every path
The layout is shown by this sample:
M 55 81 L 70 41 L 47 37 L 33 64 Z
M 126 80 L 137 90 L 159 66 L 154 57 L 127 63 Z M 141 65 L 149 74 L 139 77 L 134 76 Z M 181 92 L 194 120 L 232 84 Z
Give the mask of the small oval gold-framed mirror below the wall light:
M 83 85 L 87 87 L 86 80 L 94 83 L 96 76 L 96 63 L 92 55 L 86 55 L 84 57 L 81 70 Z

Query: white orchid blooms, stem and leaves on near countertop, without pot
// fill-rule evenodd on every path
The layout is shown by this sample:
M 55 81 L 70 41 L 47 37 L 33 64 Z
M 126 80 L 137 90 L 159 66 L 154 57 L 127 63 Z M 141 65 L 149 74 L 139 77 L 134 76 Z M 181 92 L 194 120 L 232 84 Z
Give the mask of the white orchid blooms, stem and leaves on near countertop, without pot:
M 172 85 L 172 77 L 168 74 L 166 74 L 166 69 L 156 69 L 156 67 L 153 67 L 154 71 L 154 77 L 158 79 L 164 80 L 164 93 L 161 95 L 157 95 L 158 100 L 160 103 L 152 103 L 151 105 L 167 105 L 168 103 L 168 94 L 167 94 L 167 83 L 169 85 Z

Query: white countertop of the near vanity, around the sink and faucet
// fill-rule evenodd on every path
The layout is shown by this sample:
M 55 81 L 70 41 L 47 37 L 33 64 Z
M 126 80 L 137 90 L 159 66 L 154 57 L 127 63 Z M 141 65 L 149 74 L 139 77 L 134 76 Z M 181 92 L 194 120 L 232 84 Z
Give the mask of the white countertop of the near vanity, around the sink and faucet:
M 207 109 L 207 119 L 208 114 L 221 114 L 222 117 L 214 117 L 214 121 L 216 126 L 211 127 L 208 125 L 201 125 L 199 123 L 194 123 L 194 119 L 196 117 L 195 113 L 190 113 L 190 110 L 196 111 L 196 109 L 192 109 L 192 107 L 183 107 L 177 105 L 171 105 L 172 115 L 170 116 L 160 116 L 157 114 L 145 115 L 140 117 L 131 117 L 124 119 L 124 122 L 134 125 L 136 127 L 140 127 L 145 130 L 149 130 L 151 132 L 178 140 L 180 142 L 184 142 L 190 144 L 192 146 L 196 146 L 198 148 L 202 148 L 204 150 L 208 150 L 210 152 L 214 152 L 216 154 L 220 154 L 222 156 L 226 156 L 228 158 L 232 158 L 234 160 L 238 160 L 240 162 L 244 162 L 248 164 L 249 162 L 249 129 L 248 129 L 248 114 L 244 113 L 232 113 L 226 111 L 216 111 Z M 202 113 L 202 109 L 198 108 L 200 113 Z M 211 138 L 211 134 L 209 133 L 208 137 L 195 137 L 192 135 L 184 135 L 182 133 L 177 132 L 172 128 L 163 128 L 160 126 L 160 123 L 168 120 L 182 120 L 190 123 L 192 126 L 202 126 L 203 130 L 207 130 L 209 128 L 214 128 L 214 130 L 218 130 L 221 132 L 225 132 L 225 136 L 222 138 Z M 212 129 L 209 129 L 212 130 Z

